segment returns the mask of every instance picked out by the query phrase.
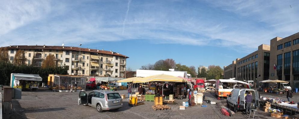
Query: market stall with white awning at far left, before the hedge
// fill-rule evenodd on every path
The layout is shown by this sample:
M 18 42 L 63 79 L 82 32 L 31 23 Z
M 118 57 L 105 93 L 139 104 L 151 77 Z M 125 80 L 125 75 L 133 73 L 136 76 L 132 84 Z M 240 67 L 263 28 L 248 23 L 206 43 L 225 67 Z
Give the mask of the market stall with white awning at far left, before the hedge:
M 12 88 L 37 89 L 42 78 L 34 74 L 11 73 L 10 86 Z

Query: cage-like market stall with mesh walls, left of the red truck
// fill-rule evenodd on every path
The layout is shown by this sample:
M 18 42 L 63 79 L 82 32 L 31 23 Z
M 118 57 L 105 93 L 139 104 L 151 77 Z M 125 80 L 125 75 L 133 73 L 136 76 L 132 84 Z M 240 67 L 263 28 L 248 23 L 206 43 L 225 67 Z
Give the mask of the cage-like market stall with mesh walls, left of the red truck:
M 81 76 L 55 74 L 52 89 L 59 92 L 85 91 L 86 80 L 86 77 Z

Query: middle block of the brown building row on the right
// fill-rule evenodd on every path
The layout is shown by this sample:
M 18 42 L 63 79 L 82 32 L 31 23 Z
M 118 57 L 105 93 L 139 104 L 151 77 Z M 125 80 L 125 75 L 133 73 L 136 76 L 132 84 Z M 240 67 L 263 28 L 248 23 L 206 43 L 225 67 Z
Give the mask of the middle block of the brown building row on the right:
M 258 50 L 243 58 L 236 59 L 236 80 L 259 81 L 269 79 L 270 46 L 262 44 Z

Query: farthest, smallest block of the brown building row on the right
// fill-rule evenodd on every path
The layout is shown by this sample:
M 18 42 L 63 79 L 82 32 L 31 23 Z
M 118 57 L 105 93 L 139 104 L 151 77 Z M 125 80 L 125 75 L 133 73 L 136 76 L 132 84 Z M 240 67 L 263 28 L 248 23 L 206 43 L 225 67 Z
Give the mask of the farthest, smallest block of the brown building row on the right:
M 232 61 L 232 64 L 223 67 L 223 77 L 224 79 L 230 79 L 236 77 L 236 61 Z

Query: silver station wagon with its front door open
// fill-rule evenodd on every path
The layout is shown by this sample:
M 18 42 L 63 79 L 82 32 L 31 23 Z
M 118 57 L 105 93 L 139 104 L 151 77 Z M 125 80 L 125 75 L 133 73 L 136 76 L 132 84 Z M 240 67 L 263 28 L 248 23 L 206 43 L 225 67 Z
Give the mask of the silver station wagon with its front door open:
M 116 91 L 94 90 L 88 95 L 80 91 L 78 104 L 95 107 L 98 112 L 103 110 L 120 109 L 123 107 L 123 99 Z

